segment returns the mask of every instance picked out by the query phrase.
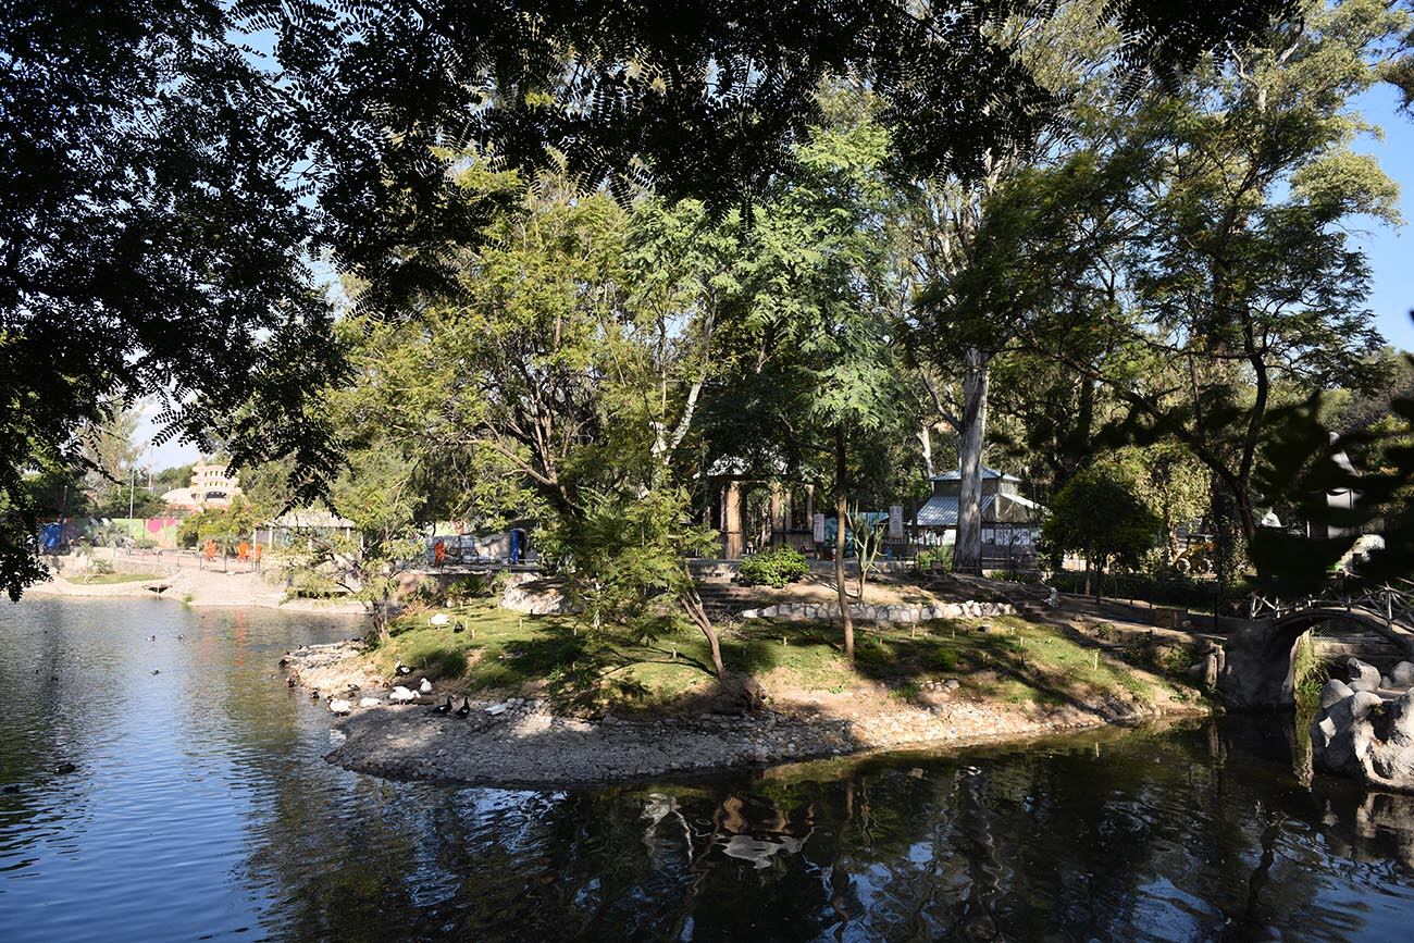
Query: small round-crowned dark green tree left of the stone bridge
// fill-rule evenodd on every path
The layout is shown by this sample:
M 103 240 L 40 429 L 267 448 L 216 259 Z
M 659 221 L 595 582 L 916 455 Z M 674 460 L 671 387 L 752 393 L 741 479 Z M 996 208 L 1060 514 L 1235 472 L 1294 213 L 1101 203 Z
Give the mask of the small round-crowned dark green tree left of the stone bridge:
M 1058 553 L 1085 554 L 1086 591 L 1094 573 L 1094 598 L 1106 568 L 1138 567 L 1154 549 L 1161 522 L 1124 478 L 1109 468 L 1079 472 L 1052 499 L 1042 540 Z

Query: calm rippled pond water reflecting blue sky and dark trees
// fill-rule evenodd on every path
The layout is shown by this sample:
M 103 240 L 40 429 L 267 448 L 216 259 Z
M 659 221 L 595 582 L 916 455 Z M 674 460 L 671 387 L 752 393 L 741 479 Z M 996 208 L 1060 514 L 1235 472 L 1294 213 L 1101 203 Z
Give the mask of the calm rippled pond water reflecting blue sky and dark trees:
M 653 787 L 390 783 L 324 763 L 329 715 L 277 676 L 352 631 L 4 604 L 0 940 L 1414 933 L 1414 800 L 1302 785 L 1280 720 Z

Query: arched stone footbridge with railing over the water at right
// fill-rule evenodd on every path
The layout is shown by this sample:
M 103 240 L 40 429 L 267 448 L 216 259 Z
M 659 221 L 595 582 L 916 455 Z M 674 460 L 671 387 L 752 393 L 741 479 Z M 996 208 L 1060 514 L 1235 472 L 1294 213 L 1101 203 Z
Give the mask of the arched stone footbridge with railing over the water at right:
M 1367 662 L 1414 660 L 1414 582 L 1407 580 L 1355 592 L 1333 587 L 1304 599 L 1253 595 L 1250 619 L 1227 636 L 1217 676 L 1232 708 L 1290 707 L 1297 640 L 1316 626 L 1333 629 L 1328 635 L 1355 635 Z

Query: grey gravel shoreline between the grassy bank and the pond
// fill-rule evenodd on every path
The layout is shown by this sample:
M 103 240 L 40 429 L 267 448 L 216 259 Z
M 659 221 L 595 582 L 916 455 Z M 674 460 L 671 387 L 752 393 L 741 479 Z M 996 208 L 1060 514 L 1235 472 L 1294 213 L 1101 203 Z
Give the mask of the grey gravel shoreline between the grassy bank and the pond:
M 387 704 L 380 679 L 349 673 L 359 643 L 300 649 L 286 657 L 296 683 L 320 697 L 382 703 L 331 717 L 344 741 L 325 759 L 345 769 L 443 783 L 564 787 L 730 768 L 905 749 L 960 748 L 1034 739 L 1085 728 L 1133 727 L 1169 715 L 1206 714 L 1195 703 L 1070 704 L 1024 710 L 994 701 L 918 704 L 857 698 L 749 714 L 653 718 L 563 717 L 544 698 L 471 700 L 465 718 L 437 714 L 444 696 Z M 416 684 L 416 677 L 410 679 Z M 461 704 L 461 696 L 455 696 Z

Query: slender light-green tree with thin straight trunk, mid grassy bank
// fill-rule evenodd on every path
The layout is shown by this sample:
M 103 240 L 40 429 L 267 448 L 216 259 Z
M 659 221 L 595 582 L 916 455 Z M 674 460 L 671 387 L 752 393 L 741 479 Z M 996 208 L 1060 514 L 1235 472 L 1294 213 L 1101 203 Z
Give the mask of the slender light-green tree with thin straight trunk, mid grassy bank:
M 843 119 L 850 99 L 836 107 Z M 836 505 L 834 578 L 846 657 L 854 621 L 844 578 L 851 437 L 896 410 L 891 344 L 887 137 L 868 122 L 840 120 L 800 148 L 800 170 L 779 181 L 756 213 L 741 262 L 744 304 L 734 369 L 717 390 L 734 423 L 776 454 L 829 458 Z M 754 403 L 744 409 L 742 400 Z M 749 424 L 742 416 L 752 416 Z

